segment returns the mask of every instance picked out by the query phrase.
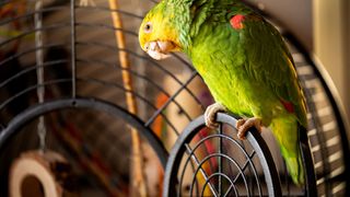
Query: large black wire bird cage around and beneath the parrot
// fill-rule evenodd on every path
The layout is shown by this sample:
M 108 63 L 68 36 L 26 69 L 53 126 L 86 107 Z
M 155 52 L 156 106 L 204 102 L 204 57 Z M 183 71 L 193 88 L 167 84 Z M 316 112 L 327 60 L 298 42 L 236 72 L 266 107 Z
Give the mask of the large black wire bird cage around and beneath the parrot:
M 63 155 L 82 196 L 128 196 L 135 179 L 150 196 L 349 194 L 346 119 L 325 71 L 291 34 L 280 28 L 308 107 L 305 188 L 292 184 L 268 130 L 240 141 L 237 117 L 224 114 L 220 129 L 203 126 L 197 117 L 213 100 L 186 57 L 155 61 L 140 49 L 138 28 L 155 3 L 0 2 L 1 194 L 32 150 Z

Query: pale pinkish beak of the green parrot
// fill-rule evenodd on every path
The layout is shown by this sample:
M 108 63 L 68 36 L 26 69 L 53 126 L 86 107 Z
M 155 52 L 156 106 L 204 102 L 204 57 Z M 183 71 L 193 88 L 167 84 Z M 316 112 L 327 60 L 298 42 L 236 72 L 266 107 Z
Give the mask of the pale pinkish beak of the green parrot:
M 154 40 L 144 45 L 147 54 L 156 60 L 168 58 L 171 56 L 168 53 L 173 51 L 175 48 L 176 45 L 167 40 Z

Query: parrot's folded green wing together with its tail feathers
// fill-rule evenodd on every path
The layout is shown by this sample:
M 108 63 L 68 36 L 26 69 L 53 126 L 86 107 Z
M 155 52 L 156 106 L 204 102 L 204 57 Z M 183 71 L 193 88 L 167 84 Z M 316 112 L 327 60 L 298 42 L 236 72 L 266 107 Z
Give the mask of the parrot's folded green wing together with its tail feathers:
M 281 153 L 293 182 L 304 184 L 304 170 L 299 147 L 299 125 L 307 127 L 306 105 L 299 84 L 294 62 L 279 32 L 262 18 L 245 21 L 242 36 L 247 56 L 246 70 L 261 85 L 284 103 L 292 104 L 292 113 L 281 114 L 271 121 Z M 291 111 L 291 109 L 290 109 Z

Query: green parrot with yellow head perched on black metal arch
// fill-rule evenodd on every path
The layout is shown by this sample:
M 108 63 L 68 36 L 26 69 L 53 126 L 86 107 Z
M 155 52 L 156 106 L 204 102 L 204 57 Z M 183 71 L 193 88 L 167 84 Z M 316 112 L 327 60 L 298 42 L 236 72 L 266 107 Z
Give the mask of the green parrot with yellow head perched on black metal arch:
M 218 127 L 218 112 L 232 112 L 244 117 L 240 139 L 250 127 L 270 127 L 293 182 L 304 184 L 304 94 L 287 45 L 261 15 L 237 0 L 163 0 L 143 19 L 139 42 L 154 59 L 185 53 L 215 100 L 207 126 Z

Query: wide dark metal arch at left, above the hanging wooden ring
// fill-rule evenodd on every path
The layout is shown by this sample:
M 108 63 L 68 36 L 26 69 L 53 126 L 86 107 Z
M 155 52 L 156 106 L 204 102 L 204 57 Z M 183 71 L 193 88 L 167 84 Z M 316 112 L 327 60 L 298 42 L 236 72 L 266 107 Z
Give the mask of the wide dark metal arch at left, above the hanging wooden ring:
M 37 104 L 24 111 L 23 113 L 15 116 L 0 132 L 0 150 L 4 148 L 7 141 L 9 141 L 9 139 L 14 135 L 18 135 L 21 131 L 21 128 L 24 127 L 27 123 L 49 112 L 65 108 L 91 108 L 100 112 L 105 112 L 116 118 L 122 118 L 126 123 L 135 127 L 140 132 L 140 135 L 142 135 L 148 140 L 148 142 L 159 157 L 162 166 L 165 166 L 168 153 L 160 139 L 154 135 L 154 132 L 149 127 L 145 127 L 144 123 L 137 116 L 128 113 L 127 111 L 115 104 L 97 99 L 57 100 Z

